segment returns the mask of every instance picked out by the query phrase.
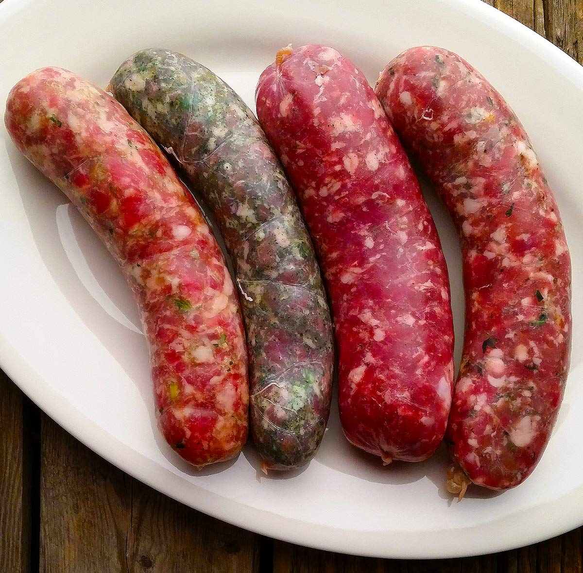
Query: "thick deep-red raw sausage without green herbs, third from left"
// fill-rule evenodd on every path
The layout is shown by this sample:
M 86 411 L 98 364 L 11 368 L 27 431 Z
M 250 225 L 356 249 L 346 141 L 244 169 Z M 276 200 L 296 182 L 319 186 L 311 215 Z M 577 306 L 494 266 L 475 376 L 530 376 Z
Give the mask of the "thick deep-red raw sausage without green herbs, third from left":
M 447 424 L 454 337 L 440 241 L 399 140 L 364 75 L 321 45 L 278 54 L 257 114 L 324 268 L 346 437 L 385 462 L 426 459 Z

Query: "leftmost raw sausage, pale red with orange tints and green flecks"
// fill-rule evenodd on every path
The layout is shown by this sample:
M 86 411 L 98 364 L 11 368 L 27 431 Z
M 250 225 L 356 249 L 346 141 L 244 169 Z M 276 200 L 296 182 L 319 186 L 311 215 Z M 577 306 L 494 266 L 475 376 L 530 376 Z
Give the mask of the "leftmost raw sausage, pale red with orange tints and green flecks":
M 166 158 L 117 101 L 60 68 L 20 80 L 5 122 L 124 270 L 168 443 L 197 466 L 237 455 L 248 407 L 237 295 L 215 237 Z

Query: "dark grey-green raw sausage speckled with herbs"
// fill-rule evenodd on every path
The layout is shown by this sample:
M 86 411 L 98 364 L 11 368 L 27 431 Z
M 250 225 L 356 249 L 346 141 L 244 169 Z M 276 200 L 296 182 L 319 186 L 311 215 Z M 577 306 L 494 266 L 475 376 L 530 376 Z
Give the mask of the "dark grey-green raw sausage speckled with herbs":
M 331 402 L 331 318 L 296 199 L 251 111 L 201 64 L 167 50 L 128 58 L 115 97 L 177 157 L 233 259 L 247 328 L 251 430 L 264 470 L 310 459 Z

